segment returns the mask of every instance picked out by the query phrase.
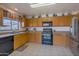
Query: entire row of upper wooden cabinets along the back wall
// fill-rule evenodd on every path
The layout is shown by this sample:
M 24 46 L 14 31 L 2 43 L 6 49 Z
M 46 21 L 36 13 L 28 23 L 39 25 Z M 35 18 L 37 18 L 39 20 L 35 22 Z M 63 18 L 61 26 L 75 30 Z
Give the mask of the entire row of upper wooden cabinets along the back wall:
M 29 25 L 33 27 L 42 27 L 42 22 L 45 21 L 52 21 L 53 26 L 70 26 L 72 22 L 72 16 L 54 16 L 46 18 L 32 18 L 31 20 L 27 20 Z

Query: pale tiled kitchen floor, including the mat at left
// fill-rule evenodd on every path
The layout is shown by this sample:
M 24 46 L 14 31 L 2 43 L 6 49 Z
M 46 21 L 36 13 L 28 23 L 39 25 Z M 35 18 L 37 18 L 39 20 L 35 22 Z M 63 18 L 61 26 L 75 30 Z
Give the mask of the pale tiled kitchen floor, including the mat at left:
M 28 43 L 15 50 L 10 56 L 73 56 L 68 48 Z

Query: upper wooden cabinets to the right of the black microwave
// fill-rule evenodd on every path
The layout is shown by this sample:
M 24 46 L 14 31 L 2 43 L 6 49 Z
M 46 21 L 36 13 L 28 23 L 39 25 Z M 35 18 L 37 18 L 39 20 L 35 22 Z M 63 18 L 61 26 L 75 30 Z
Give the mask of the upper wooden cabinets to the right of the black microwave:
M 72 16 L 56 16 L 52 18 L 53 26 L 70 26 Z

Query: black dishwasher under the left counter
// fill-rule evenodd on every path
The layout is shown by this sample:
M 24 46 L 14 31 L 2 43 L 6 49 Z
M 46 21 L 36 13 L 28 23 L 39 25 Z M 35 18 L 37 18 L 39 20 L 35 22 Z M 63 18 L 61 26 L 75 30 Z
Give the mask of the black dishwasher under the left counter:
M 13 36 L 0 38 L 0 56 L 7 56 L 14 50 Z

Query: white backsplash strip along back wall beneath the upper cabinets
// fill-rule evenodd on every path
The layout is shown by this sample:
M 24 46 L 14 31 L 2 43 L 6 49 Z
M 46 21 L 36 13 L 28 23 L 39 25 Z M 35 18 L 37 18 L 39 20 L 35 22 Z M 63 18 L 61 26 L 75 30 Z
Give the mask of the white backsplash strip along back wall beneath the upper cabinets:
M 43 28 L 52 28 L 53 31 L 71 31 L 70 27 L 26 27 L 29 31 L 43 31 Z

